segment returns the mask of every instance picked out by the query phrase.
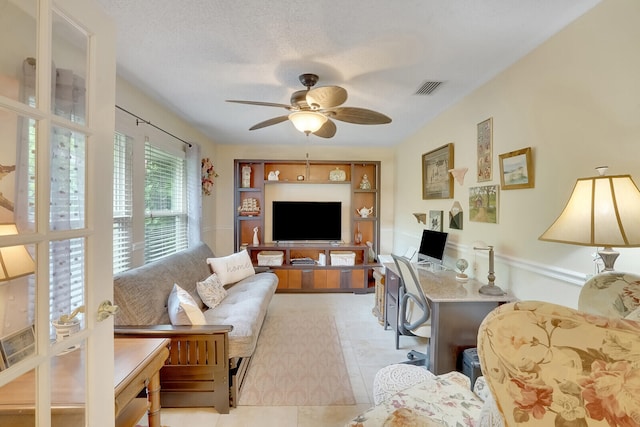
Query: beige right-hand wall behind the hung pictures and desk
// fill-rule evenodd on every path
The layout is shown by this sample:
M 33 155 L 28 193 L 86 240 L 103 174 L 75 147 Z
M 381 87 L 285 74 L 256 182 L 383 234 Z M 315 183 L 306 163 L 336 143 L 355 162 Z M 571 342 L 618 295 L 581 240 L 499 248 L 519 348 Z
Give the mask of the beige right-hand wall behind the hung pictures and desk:
M 422 200 L 417 159 L 453 142 L 455 166 L 469 171 L 464 185 L 455 184 L 464 229 L 449 230 L 447 255 L 467 258 L 485 277 L 486 255 L 470 249 L 483 240 L 495 245 L 499 285 L 523 299 L 575 306 L 575 284 L 594 272 L 594 248 L 542 242 L 538 236 L 561 212 L 576 179 L 595 175 L 596 166 L 608 165 L 609 174 L 631 174 L 640 183 L 638 19 L 640 2 L 605 0 L 401 143 L 393 249 L 401 253 L 417 244 L 421 227 L 412 212 L 444 210 L 447 216 L 453 200 Z M 471 222 L 467 215 L 469 187 L 480 185 L 476 124 L 489 117 L 494 171 L 488 184 L 500 184 L 498 155 L 520 148 L 533 148 L 536 173 L 535 188 L 500 192 L 497 225 Z M 640 249 L 620 252 L 617 269 L 640 272 Z

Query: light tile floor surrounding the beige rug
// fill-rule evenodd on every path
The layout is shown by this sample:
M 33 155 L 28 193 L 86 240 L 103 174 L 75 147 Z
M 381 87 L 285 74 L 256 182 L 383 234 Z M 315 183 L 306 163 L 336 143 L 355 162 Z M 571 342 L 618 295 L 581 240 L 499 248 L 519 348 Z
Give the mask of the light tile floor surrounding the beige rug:
M 406 360 L 411 349 L 426 350 L 426 339 L 400 337 L 384 330 L 372 314 L 374 294 L 276 294 L 269 312 L 330 312 L 336 319 L 356 405 L 349 406 L 238 406 L 229 414 L 211 408 L 164 408 L 168 427 L 339 427 L 373 404 L 373 377 L 378 369 Z M 251 369 L 251 368 L 249 368 Z M 146 417 L 140 420 L 146 426 Z

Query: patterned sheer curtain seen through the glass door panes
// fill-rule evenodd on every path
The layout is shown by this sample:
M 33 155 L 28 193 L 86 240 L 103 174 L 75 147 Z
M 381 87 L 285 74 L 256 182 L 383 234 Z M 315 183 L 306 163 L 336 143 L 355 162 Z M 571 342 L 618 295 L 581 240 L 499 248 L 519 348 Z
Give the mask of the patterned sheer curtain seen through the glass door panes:
M 35 102 L 36 62 L 23 63 L 23 97 Z M 52 71 L 52 110 L 72 122 L 85 121 L 85 82 L 71 70 Z M 29 119 L 31 121 L 31 119 Z M 20 173 L 16 176 L 19 228 L 35 229 L 35 146 L 33 125 L 22 127 L 18 144 Z M 86 137 L 60 127 L 50 129 L 50 212 L 51 230 L 85 227 Z M 26 202 L 26 203 L 25 203 Z M 26 211 L 25 211 L 26 209 Z M 70 313 L 84 303 L 84 239 L 52 242 L 49 247 L 49 295 L 51 320 Z M 35 298 L 35 282 L 30 283 L 30 297 Z M 30 306 L 35 306 L 31 305 Z M 33 318 L 33 314 L 30 313 Z

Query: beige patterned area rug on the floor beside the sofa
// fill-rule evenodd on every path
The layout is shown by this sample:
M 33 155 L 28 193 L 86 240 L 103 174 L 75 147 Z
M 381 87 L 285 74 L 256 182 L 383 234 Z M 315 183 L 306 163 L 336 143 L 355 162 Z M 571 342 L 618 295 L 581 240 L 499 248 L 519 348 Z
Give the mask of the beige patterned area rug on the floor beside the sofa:
M 354 405 L 333 316 L 267 315 L 238 404 Z

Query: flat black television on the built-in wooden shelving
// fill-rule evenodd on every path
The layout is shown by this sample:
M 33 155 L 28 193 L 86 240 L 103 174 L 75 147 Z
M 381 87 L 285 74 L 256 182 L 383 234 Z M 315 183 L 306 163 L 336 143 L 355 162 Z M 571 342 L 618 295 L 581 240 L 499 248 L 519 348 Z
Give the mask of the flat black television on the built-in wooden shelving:
M 342 202 L 272 202 L 274 242 L 327 241 L 342 238 Z

